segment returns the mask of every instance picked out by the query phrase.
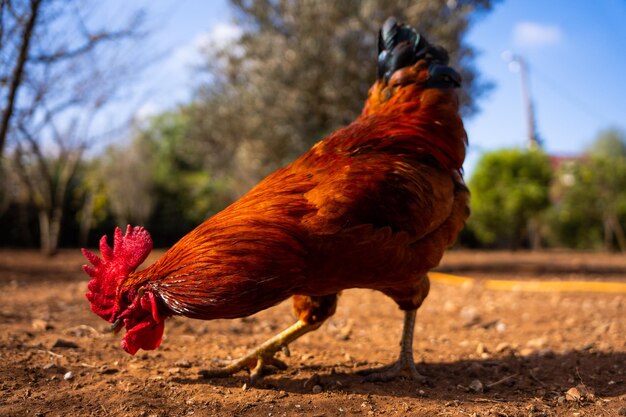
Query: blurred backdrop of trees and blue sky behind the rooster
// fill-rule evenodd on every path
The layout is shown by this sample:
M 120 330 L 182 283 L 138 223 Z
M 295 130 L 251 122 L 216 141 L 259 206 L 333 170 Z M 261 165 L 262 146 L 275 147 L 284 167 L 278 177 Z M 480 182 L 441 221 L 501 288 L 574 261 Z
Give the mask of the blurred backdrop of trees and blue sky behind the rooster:
M 626 3 L 0 1 L 0 246 L 168 246 L 352 121 L 388 16 L 464 78 L 468 248 L 626 251 Z

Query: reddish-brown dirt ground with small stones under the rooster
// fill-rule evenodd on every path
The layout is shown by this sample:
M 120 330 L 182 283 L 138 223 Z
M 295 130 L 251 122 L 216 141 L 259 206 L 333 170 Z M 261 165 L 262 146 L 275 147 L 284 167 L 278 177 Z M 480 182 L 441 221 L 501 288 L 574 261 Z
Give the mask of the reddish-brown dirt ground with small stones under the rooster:
M 288 370 L 243 389 L 245 373 L 198 372 L 290 325 L 289 302 L 245 319 L 170 319 L 159 349 L 130 356 L 90 312 L 83 262 L 78 251 L 52 260 L 0 251 L 0 415 L 626 415 L 626 294 L 434 283 L 414 339 L 426 381 L 368 383 L 357 372 L 395 359 L 402 313 L 379 293 L 350 290 L 291 346 Z M 626 257 L 451 252 L 441 270 L 626 282 Z

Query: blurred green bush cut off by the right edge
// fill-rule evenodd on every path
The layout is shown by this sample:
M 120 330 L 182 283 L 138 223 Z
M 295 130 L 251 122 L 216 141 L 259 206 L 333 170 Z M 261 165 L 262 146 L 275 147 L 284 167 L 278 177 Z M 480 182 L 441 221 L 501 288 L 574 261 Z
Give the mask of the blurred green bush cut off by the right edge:
M 617 129 L 598 134 L 578 161 L 563 167 L 555 184 L 553 214 L 557 239 L 568 246 L 615 243 L 626 252 L 626 135 Z

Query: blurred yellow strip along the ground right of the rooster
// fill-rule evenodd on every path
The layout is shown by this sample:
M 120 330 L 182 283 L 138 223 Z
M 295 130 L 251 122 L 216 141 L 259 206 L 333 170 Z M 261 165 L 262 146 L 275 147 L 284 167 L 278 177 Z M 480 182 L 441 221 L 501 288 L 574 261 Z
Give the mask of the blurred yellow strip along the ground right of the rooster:
M 474 279 L 457 275 L 430 272 L 431 282 L 455 286 L 479 284 L 482 288 L 496 291 L 526 292 L 602 292 L 626 294 L 626 282 L 607 281 L 509 281 L 501 279 Z

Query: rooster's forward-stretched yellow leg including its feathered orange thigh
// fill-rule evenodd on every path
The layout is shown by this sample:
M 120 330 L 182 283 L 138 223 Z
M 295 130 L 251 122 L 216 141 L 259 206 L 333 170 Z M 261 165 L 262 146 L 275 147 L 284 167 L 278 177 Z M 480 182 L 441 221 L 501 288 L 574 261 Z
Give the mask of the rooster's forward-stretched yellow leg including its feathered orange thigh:
M 233 375 L 243 369 L 250 370 L 250 385 L 254 385 L 268 366 L 286 369 L 287 365 L 274 357 L 282 351 L 289 356 L 289 344 L 302 335 L 316 330 L 335 312 L 336 294 L 321 297 L 294 296 L 294 310 L 299 320 L 276 336 L 252 349 L 243 357 L 224 368 L 201 371 L 205 378 L 220 378 Z

